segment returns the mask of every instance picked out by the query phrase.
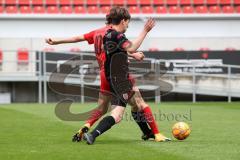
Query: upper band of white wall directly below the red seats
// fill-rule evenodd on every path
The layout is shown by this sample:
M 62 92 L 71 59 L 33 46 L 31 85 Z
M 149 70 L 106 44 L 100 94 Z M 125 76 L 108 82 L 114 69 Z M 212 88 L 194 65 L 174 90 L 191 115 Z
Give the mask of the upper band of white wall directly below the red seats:
M 1 18 L 0 37 L 40 38 L 83 34 L 104 25 L 103 18 Z M 135 37 L 144 21 L 133 18 L 127 36 Z M 240 21 L 232 18 L 156 18 L 149 37 L 240 37 Z

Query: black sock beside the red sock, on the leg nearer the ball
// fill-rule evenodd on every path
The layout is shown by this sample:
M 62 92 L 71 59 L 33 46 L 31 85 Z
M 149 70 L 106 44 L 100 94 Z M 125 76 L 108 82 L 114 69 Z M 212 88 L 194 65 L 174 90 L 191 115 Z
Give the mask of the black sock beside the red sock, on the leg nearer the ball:
M 145 120 L 145 117 L 142 112 L 132 112 L 132 117 L 135 122 L 138 124 L 139 128 L 145 135 L 149 135 L 152 131 L 148 128 L 148 124 Z

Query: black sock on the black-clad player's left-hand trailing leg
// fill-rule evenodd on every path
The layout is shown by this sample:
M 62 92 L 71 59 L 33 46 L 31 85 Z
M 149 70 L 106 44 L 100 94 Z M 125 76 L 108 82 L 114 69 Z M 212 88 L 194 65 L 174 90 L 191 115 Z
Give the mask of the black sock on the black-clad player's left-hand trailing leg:
M 96 138 L 100 134 L 103 134 L 105 131 L 109 130 L 115 124 L 115 120 L 112 116 L 107 116 L 103 118 L 97 127 L 91 132 L 92 136 Z

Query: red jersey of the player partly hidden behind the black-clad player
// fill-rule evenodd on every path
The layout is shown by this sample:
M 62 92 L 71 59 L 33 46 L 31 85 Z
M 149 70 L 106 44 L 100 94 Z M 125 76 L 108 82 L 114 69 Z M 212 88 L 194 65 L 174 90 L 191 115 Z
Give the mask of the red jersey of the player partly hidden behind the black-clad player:
M 110 26 L 105 26 L 83 35 L 88 44 L 94 44 L 95 55 L 100 70 L 104 70 L 104 62 L 106 60 L 105 51 L 103 48 L 103 37 L 110 28 Z

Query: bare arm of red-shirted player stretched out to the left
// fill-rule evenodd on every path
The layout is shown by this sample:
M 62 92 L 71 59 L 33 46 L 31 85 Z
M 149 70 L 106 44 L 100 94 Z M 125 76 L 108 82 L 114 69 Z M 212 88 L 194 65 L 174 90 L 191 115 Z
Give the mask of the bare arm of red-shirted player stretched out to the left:
M 85 38 L 83 35 L 81 35 L 81 36 L 76 36 L 76 37 L 67 38 L 67 39 L 59 39 L 59 40 L 53 40 L 52 38 L 46 38 L 45 41 L 46 41 L 46 43 L 48 43 L 50 45 L 57 45 L 57 44 L 64 44 L 64 43 L 82 42 L 82 41 L 85 41 Z

